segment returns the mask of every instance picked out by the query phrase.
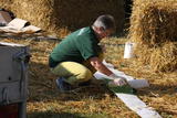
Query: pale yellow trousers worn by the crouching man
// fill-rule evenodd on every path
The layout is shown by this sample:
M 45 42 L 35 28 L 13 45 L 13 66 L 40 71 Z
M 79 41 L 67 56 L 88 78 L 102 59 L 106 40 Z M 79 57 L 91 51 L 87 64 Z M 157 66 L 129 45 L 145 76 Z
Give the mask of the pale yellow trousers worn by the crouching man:
M 100 58 L 103 58 L 103 54 L 100 54 Z M 58 76 L 64 77 L 65 82 L 71 85 L 77 85 L 86 82 L 93 77 L 93 73 L 96 69 L 85 61 L 83 64 L 76 62 L 62 62 L 56 67 L 51 68 L 51 72 Z

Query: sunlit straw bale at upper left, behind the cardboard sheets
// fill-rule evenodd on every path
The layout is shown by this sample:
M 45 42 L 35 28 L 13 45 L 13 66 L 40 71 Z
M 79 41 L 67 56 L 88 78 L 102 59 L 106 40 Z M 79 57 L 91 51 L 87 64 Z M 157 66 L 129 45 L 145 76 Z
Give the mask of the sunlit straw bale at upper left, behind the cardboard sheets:
M 30 21 L 44 30 L 53 30 L 52 0 L 13 0 L 12 10 L 18 18 Z

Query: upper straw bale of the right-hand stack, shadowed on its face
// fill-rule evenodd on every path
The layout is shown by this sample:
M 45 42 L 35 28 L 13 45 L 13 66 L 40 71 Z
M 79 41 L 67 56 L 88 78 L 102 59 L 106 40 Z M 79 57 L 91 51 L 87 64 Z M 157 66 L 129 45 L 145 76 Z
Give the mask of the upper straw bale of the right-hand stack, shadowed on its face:
M 177 2 L 135 2 L 131 24 L 131 39 L 137 42 L 157 45 L 177 41 Z

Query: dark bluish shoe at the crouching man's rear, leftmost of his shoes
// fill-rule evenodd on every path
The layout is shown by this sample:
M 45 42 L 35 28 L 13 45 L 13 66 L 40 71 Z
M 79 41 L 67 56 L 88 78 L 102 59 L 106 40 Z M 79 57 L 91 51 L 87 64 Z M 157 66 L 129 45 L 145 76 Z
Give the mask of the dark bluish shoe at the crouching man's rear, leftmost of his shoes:
M 65 79 L 64 77 L 59 77 L 56 79 L 56 86 L 61 93 L 69 92 L 72 89 L 72 86 L 66 82 L 64 82 L 64 79 Z

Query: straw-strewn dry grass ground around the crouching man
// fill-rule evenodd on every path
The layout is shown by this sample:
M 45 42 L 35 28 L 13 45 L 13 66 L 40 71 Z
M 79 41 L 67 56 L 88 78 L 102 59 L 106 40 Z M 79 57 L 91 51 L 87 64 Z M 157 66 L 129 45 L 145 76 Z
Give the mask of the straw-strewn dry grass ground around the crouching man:
M 55 76 L 50 73 L 48 55 L 56 42 L 30 40 L 3 40 L 30 45 L 32 58 L 29 68 L 28 115 L 30 118 L 138 118 L 105 87 L 93 84 L 70 94 L 59 93 L 55 88 Z M 148 106 L 155 108 L 163 118 L 177 117 L 177 74 L 156 74 L 124 60 L 119 46 L 125 39 L 108 39 L 106 60 L 114 63 L 118 69 L 137 78 L 146 78 L 150 88 L 139 89 L 137 96 Z M 118 45 L 118 46 L 116 46 Z

